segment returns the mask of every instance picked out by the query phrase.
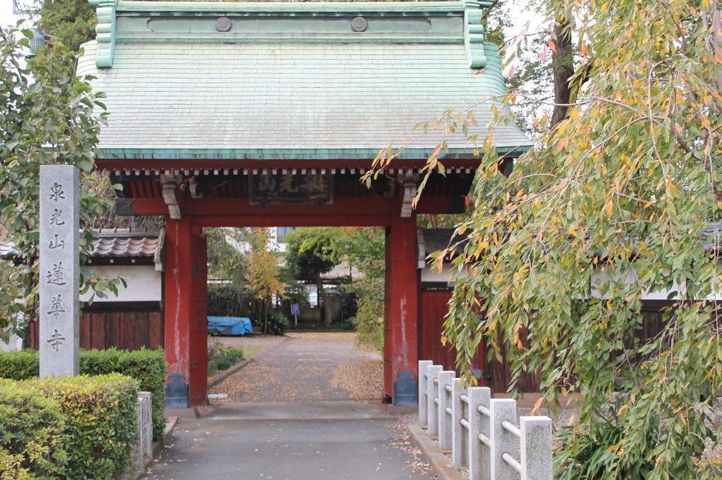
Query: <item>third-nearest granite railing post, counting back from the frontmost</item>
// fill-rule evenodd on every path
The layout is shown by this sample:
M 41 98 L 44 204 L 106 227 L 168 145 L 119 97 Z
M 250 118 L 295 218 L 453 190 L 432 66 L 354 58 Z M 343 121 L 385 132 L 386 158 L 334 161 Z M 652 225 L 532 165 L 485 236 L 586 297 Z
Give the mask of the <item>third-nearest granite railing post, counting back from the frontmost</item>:
M 479 412 L 479 405 L 489 409 L 492 391 L 489 387 L 469 387 L 469 479 L 490 480 L 491 450 L 479 440 L 479 434 L 491 437 L 490 418 Z

